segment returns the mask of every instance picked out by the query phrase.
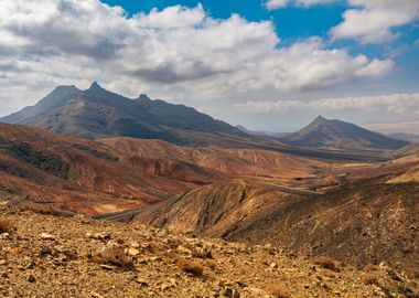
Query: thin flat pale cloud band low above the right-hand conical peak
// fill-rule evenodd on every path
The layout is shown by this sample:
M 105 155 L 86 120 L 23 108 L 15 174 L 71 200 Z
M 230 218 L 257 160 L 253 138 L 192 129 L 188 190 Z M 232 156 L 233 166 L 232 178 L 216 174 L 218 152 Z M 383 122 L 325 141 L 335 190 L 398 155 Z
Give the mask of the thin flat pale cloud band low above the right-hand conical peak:
M 234 107 L 244 114 L 269 114 L 292 110 L 362 110 L 396 114 L 416 111 L 419 115 L 419 93 L 320 98 L 314 100 L 247 102 L 235 104 Z

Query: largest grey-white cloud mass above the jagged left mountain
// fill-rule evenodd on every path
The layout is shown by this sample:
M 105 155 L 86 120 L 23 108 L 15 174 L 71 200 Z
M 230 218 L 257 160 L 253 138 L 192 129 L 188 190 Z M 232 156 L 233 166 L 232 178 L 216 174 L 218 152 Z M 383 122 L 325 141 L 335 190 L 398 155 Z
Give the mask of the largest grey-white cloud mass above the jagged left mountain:
M 320 1 L 296 1 L 314 2 Z M 327 49 L 319 38 L 280 46 L 270 21 L 214 19 L 201 4 L 135 15 L 98 0 L 0 6 L 0 93 L 14 88 L 10 94 L 19 103 L 33 103 L 54 85 L 95 79 L 128 94 L 158 89 L 189 98 L 265 87 L 311 91 L 380 76 L 394 66 L 390 60 Z M 18 96 L 22 86 L 26 93 Z

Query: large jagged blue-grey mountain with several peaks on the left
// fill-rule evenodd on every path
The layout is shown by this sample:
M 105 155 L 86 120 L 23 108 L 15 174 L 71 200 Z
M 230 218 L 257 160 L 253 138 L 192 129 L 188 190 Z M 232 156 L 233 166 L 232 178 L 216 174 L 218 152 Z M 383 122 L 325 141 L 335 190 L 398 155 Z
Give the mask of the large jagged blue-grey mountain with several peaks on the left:
M 73 137 L 110 136 L 163 139 L 175 143 L 203 142 L 196 132 L 246 136 L 224 121 L 194 108 L 152 100 L 147 95 L 130 99 L 101 88 L 96 82 L 87 91 L 61 86 L 32 107 L 0 121 L 45 128 Z

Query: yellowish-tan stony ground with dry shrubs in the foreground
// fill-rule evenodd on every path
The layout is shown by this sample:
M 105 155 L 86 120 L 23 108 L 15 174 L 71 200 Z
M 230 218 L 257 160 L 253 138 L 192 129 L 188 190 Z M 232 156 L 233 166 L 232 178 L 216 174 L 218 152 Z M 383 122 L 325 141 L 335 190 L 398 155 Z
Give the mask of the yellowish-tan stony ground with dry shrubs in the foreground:
M 418 297 L 386 264 L 363 270 L 270 246 L 0 209 L 1 297 Z

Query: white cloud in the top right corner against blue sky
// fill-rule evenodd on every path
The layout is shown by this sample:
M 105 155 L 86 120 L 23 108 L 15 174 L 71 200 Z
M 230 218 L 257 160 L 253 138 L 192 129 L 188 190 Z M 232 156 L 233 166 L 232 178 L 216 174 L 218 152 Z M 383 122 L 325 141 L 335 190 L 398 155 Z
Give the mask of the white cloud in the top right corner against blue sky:
M 353 7 L 343 22 L 331 30 L 334 39 L 358 39 L 362 43 L 395 40 L 395 28 L 419 18 L 418 0 L 348 0 Z

